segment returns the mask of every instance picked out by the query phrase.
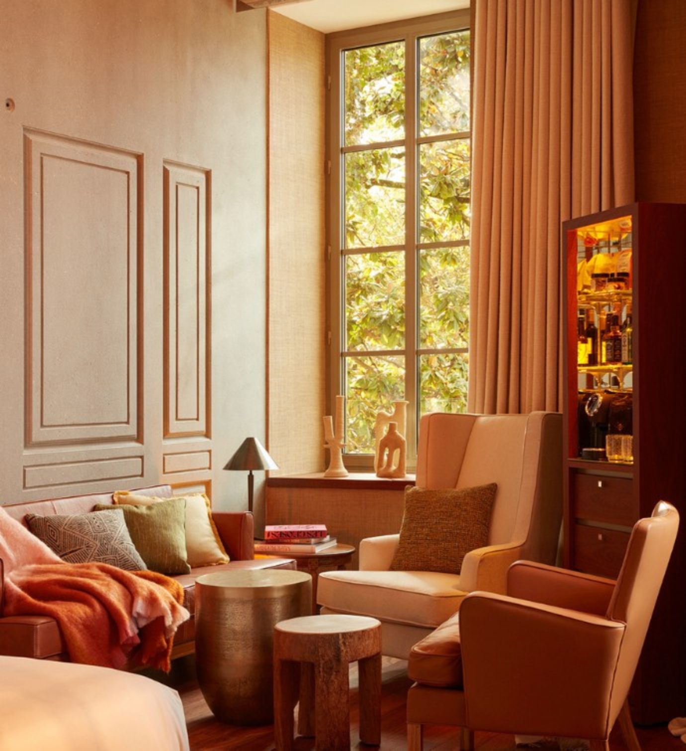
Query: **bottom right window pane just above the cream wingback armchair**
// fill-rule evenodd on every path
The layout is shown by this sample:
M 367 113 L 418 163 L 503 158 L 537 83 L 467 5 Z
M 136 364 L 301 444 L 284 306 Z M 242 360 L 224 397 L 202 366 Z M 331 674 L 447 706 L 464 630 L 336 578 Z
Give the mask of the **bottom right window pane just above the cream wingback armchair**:
M 420 354 L 420 415 L 466 412 L 468 354 Z

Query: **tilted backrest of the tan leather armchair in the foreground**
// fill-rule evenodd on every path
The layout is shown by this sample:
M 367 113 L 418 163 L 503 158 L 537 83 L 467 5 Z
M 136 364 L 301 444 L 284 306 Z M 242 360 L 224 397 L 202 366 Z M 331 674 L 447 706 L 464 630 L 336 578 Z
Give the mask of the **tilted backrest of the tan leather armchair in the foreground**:
M 627 624 L 612 690 L 610 719 L 618 715 L 627 696 L 648 632 L 657 595 L 672 555 L 678 531 L 678 511 L 660 501 L 651 517 L 633 526 L 607 617 Z M 678 624 L 675 624 L 675 628 Z M 666 656 L 666 659 L 669 659 Z

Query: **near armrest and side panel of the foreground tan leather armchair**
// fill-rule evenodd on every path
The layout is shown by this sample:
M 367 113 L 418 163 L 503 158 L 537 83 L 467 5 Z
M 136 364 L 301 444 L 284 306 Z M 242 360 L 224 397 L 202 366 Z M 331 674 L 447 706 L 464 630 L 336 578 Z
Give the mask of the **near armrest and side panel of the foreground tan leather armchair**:
M 552 605 L 468 595 L 460 608 L 468 727 L 606 738 L 625 629 Z

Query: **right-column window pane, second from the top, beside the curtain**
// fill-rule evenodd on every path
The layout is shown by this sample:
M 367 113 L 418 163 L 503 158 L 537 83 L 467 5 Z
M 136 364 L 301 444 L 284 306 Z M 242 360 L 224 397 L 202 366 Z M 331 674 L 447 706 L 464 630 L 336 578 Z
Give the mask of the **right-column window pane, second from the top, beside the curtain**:
M 469 139 L 420 146 L 420 243 L 469 237 Z

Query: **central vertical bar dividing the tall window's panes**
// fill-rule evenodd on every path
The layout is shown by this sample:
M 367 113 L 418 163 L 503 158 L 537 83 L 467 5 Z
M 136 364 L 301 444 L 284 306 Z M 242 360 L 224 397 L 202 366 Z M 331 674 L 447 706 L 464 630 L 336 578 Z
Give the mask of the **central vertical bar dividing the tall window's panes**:
M 405 399 L 409 457 L 417 456 L 417 35 L 405 39 Z

